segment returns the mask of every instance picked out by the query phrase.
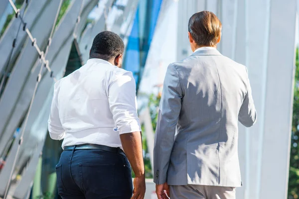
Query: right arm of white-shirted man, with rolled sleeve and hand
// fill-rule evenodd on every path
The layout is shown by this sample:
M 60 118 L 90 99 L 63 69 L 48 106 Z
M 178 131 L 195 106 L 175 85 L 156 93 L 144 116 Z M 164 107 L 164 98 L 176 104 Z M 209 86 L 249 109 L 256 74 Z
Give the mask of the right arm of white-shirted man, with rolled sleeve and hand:
M 137 114 L 136 84 L 131 72 L 118 76 L 108 89 L 109 104 L 125 154 L 136 175 L 134 199 L 143 199 L 146 191 L 141 126 Z

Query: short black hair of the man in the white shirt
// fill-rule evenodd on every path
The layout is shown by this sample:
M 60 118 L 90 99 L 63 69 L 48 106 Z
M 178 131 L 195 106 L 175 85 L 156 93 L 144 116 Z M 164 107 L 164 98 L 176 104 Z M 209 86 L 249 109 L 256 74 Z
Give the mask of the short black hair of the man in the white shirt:
M 124 53 L 124 42 L 120 36 L 111 31 L 103 31 L 94 38 L 90 58 L 101 57 L 106 61 Z

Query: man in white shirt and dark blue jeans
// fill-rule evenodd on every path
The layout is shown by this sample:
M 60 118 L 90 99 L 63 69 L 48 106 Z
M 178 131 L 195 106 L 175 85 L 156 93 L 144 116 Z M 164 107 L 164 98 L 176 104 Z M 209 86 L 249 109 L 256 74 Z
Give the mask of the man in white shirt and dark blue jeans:
M 63 199 L 145 196 L 136 85 L 132 73 L 121 69 L 123 52 L 117 34 L 101 32 L 87 63 L 54 86 L 48 130 L 52 139 L 64 139 L 56 166 Z

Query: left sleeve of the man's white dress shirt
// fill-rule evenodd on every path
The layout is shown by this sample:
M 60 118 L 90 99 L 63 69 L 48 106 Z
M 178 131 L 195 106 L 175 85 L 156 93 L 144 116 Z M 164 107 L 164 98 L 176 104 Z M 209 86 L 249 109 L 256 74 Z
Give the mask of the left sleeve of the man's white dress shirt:
M 54 94 L 51 104 L 50 116 L 48 119 L 48 131 L 50 137 L 54 140 L 62 140 L 65 137 L 65 131 L 61 125 L 59 112 L 58 112 L 58 101 L 57 95 L 59 92 L 59 82 L 54 86 Z

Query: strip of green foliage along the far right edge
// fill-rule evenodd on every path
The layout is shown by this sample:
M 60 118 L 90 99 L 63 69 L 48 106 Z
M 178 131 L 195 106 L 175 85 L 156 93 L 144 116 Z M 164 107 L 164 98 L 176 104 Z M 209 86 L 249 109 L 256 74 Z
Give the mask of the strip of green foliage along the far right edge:
M 290 156 L 289 199 L 299 199 L 299 60 L 296 53 L 296 74 L 293 105 L 293 126 Z

